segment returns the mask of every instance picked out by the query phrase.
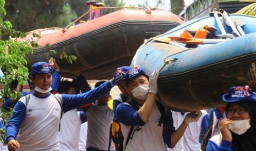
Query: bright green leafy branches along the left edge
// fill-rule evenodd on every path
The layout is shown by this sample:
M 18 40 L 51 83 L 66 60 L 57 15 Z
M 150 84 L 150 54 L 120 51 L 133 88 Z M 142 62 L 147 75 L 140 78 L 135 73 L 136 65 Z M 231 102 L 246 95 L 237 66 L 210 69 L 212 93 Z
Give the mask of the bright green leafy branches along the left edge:
M 6 15 L 4 9 L 4 0 L 0 0 L 0 14 Z M 0 18 L 0 33 L 1 36 L 7 34 L 13 38 L 25 37 L 25 33 L 16 31 L 13 29 L 13 25 L 10 21 L 4 21 Z M 0 40 L 0 67 L 4 73 L 4 77 L 0 78 L 0 84 L 3 89 L 0 90 L 1 97 L 10 97 L 13 100 L 17 99 L 19 93 L 12 90 L 10 85 L 17 79 L 20 84 L 25 84 L 25 80 L 28 79 L 28 68 L 26 65 L 26 54 L 32 54 L 33 50 L 29 46 L 27 41 L 17 42 L 13 39 Z M 7 122 L 11 112 L 4 112 L 1 109 L 1 118 L 4 123 Z M 0 140 L 4 140 L 4 132 L 1 130 Z

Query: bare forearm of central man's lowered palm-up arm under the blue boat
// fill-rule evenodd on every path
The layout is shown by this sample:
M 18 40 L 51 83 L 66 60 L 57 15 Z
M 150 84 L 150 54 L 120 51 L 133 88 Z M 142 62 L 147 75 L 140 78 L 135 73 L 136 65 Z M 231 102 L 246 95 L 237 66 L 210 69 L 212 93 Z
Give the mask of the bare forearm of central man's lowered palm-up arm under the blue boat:
M 174 131 L 171 135 L 171 147 L 175 147 L 181 137 L 184 135 L 184 132 L 187 129 L 188 124 L 183 121 L 182 124 L 178 127 L 176 131 Z

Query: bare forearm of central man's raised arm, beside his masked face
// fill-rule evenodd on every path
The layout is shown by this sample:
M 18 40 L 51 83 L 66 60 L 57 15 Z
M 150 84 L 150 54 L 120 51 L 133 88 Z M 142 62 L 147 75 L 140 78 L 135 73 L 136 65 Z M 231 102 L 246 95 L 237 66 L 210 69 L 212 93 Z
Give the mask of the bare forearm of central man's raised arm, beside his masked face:
M 154 103 L 155 103 L 155 96 L 156 95 L 154 93 L 149 93 L 148 97 L 146 98 L 145 103 L 138 111 L 140 118 L 144 122 L 148 121 L 148 119 L 149 119 L 149 115 L 150 115 L 152 108 L 154 106 Z

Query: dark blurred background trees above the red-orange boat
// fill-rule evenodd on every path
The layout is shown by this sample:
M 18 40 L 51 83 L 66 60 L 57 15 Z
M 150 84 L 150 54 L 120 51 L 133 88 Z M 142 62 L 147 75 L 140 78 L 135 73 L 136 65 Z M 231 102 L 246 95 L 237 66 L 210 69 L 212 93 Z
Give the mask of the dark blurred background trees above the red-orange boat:
M 105 7 L 124 6 L 123 0 L 105 0 Z M 85 0 L 6 0 L 5 20 L 10 20 L 17 30 L 28 32 L 39 28 L 66 27 L 89 10 Z M 104 14 L 115 9 L 104 9 Z M 85 17 L 85 20 L 89 16 Z

